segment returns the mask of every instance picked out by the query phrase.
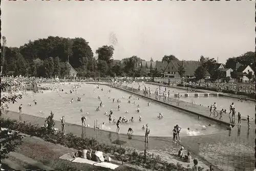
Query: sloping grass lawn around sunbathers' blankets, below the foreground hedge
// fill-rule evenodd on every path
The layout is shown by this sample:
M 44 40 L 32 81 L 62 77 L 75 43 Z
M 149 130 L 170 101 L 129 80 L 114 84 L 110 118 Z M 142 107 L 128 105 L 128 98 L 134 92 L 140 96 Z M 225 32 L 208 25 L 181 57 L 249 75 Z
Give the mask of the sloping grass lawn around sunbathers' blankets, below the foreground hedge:
M 18 147 L 16 153 L 22 154 L 26 157 L 32 158 L 38 162 L 43 163 L 55 170 L 111 170 L 109 168 L 103 168 L 93 166 L 86 163 L 75 163 L 67 160 L 59 159 L 60 156 L 75 152 L 75 149 L 67 148 L 61 145 L 56 145 L 50 142 L 46 142 L 35 137 L 25 137 L 22 145 Z M 13 162 L 16 162 L 20 166 L 24 166 L 27 169 L 38 169 L 28 165 L 22 161 L 19 161 L 13 157 L 9 158 Z M 139 170 L 130 168 L 125 165 L 120 165 L 116 170 Z

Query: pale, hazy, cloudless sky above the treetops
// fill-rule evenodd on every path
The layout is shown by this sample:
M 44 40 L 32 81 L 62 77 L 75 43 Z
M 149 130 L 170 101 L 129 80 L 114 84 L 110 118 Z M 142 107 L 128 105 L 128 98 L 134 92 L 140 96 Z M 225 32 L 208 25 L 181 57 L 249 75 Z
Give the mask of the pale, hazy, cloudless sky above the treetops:
M 254 1 L 2 1 L 8 47 L 48 36 L 82 37 L 94 55 L 114 45 L 114 59 L 226 59 L 255 51 Z

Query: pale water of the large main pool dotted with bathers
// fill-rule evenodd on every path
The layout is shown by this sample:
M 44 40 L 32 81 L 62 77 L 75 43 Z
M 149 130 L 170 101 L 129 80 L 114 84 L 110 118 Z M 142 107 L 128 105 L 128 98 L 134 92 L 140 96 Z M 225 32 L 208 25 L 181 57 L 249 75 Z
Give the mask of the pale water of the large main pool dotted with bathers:
M 53 84 L 57 87 L 59 84 Z M 17 103 L 9 104 L 11 111 L 18 112 L 18 106 L 23 104 L 23 113 L 29 115 L 35 115 L 40 117 L 47 117 L 50 115 L 50 112 L 53 111 L 54 119 L 59 120 L 61 116 L 65 116 L 66 122 L 75 123 L 81 125 L 81 117 L 87 117 L 87 124 L 90 127 L 94 126 L 94 121 L 97 119 L 98 124 L 105 122 L 105 125 L 102 125 L 103 130 L 108 130 L 116 132 L 117 126 L 115 123 L 109 123 L 108 116 L 105 116 L 104 113 L 110 113 L 110 110 L 113 109 L 113 115 L 115 120 L 117 118 L 125 116 L 126 119 L 131 119 L 134 117 L 134 122 L 121 123 L 119 133 L 126 134 L 129 127 L 134 131 L 135 135 L 144 135 L 145 131 L 142 130 L 142 125 L 146 123 L 149 124 L 151 128 L 151 136 L 172 136 L 172 130 L 174 125 L 179 124 L 182 128 L 180 134 L 181 136 L 193 136 L 193 135 L 204 135 L 218 133 L 225 129 L 224 126 L 219 125 L 218 123 L 200 118 L 193 114 L 189 114 L 177 109 L 173 109 L 170 106 L 151 101 L 151 105 L 148 106 L 148 99 L 143 99 L 136 96 L 133 96 L 131 103 L 128 103 L 127 98 L 131 95 L 127 92 L 118 89 L 111 89 L 108 86 L 100 85 L 100 88 L 96 88 L 96 84 L 85 84 L 83 83 L 80 88 L 77 88 L 77 93 L 74 91 L 72 94 L 70 90 L 74 84 L 65 84 L 63 87 L 63 92 L 59 91 L 50 91 L 45 93 L 29 93 L 24 95 L 23 99 L 18 100 Z M 101 91 L 103 88 L 103 91 Z M 108 93 L 108 90 L 111 89 L 111 92 Z M 65 92 L 68 92 L 66 94 Z M 85 94 L 83 96 L 83 94 Z M 96 112 L 96 108 L 100 104 L 98 99 L 100 96 L 103 106 L 100 107 L 100 111 Z M 81 97 L 81 101 L 77 101 L 77 98 Z M 70 103 L 71 99 L 74 99 Z M 115 98 L 115 102 L 113 102 Z M 117 99 L 121 99 L 122 102 L 118 103 Z M 33 103 L 33 100 L 37 100 L 37 104 Z M 136 104 L 133 104 L 135 101 Z M 31 106 L 28 105 L 31 104 Z M 120 111 L 118 111 L 117 106 L 120 104 Z M 140 113 L 137 113 L 136 110 L 139 109 Z M 82 109 L 82 112 L 80 112 Z M 128 113 L 125 113 L 128 111 Z M 87 115 L 87 112 L 89 113 Z M 159 113 L 163 114 L 163 118 L 159 119 L 157 116 Z M 139 121 L 139 116 L 142 117 L 142 121 Z M 210 124 L 210 126 L 208 126 Z M 190 132 L 187 131 L 187 128 L 190 128 Z M 194 131 L 193 131 L 194 130 Z

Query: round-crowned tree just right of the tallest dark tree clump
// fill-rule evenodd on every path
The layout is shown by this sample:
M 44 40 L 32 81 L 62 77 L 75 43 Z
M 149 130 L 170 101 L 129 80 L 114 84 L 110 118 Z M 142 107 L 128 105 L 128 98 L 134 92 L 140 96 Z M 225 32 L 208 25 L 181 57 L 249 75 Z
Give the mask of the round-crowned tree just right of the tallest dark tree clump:
M 114 47 L 104 45 L 96 50 L 96 54 L 98 54 L 98 60 L 104 60 L 106 63 L 110 63 L 114 54 Z

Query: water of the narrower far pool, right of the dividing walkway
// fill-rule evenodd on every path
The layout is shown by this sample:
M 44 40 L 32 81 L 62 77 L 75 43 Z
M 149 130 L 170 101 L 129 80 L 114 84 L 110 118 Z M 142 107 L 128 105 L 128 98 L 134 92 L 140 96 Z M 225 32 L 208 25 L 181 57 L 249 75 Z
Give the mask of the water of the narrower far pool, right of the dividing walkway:
M 134 89 L 138 89 L 139 84 L 138 83 L 130 83 L 130 84 L 123 84 L 123 86 L 129 86 L 133 87 Z M 159 86 L 155 84 L 148 84 L 148 83 L 140 83 L 141 89 L 144 89 L 144 85 L 146 88 L 150 87 L 153 90 L 153 93 L 155 93 L 156 89 L 159 89 Z M 182 89 L 175 89 L 175 88 L 169 88 L 166 87 L 167 92 L 170 91 L 170 93 L 179 92 L 179 93 L 186 93 L 186 90 Z M 165 91 L 165 87 L 161 87 L 161 92 Z M 191 93 L 191 92 L 190 92 Z M 176 98 L 174 97 L 174 94 L 170 94 L 170 98 Z M 195 104 L 203 105 L 203 106 L 210 106 L 211 104 L 214 104 L 216 102 L 217 104 L 217 110 L 226 109 L 227 113 L 229 113 L 229 105 L 234 102 L 234 108 L 236 109 L 237 113 L 240 112 L 241 116 L 247 117 L 247 115 L 252 115 L 252 111 L 254 111 L 255 108 L 255 102 L 254 101 L 238 101 L 237 98 L 232 97 L 225 97 L 225 96 L 214 96 L 209 95 L 209 97 L 204 97 L 204 95 L 199 95 L 199 97 L 195 97 L 193 94 L 189 94 L 189 97 L 185 97 L 184 95 L 181 95 L 180 100 L 186 101 L 186 102 L 192 102 L 194 101 Z

